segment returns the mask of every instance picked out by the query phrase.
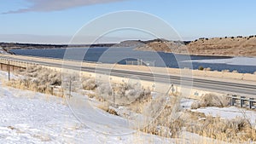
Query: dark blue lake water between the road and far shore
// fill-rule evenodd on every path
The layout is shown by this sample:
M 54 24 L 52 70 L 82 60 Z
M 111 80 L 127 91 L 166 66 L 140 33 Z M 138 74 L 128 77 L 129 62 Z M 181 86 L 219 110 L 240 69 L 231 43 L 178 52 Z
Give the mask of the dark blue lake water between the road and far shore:
M 68 49 L 13 49 L 16 55 L 32 55 L 59 59 L 87 60 L 102 63 L 137 64 L 137 59 L 146 65 L 167 66 L 173 68 L 199 66 L 211 67 L 212 70 L 237 70 L 242 73 L 256 72 L 256 65 L 246 65 L 247 62 L 232 62 L 233 57 L 173 55 L 172 53 L 137 51 L 132 48 L 68 48 Z M 240 60 L 240 59 L 238 59 Z M 256 58 L 250 59 L 256 62 Z M 130 62 L 129 62 L 130 61 Z M 228 61 L 228 62 L 226 62 Z M 231 61 L 231 62 L 230 62 Z

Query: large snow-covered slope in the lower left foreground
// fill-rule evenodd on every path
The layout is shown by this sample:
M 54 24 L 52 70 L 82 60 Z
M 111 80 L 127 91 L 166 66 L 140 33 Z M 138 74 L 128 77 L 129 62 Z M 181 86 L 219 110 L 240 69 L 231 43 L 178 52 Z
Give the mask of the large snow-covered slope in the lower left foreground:
M 6 78 L 6 75 L 6 72 L 0 72 L 0 78 Z M 174 142 L 141 132 L 131 135 L 97 133 L 74 117 L 64 99 L 0 86 L 0 143 Z

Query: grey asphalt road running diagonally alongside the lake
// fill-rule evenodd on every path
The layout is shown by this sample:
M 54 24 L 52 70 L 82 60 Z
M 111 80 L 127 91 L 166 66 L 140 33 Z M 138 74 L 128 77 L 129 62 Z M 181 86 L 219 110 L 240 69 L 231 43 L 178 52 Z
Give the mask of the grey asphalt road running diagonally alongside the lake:
M 0 58 L 10 59 L 9 56 L 0 55 Z M 206 89 L 216 92 L 224 92 L 230 95 L 244 95 L 244 96 L 253 96 L 256 98 L 256 82 L 255 84 L 236 84 L 224 81 L 215 81 L 204 78 L 185 78 L 179 76 L 172 76 L 167 74 L 159 73 L 148 73 L 148 72 L 132 72 L 128 70 L 116 70 L 116 69 L 107 69 L 107 68 L 94 68 L 87 66 L 63 66 L 62 64 L 57 64 L 54 62 L 45 62 L 39 60 L 26 60 L 20 58 L 11 58 L 12 60 L 24 61 L 38 63 L 44 66 L 55 66 L 55 67 L 65 67 L 73 70 L 81 70 L 84 72 L 96 72 L 101 74 L 107 74 L 111 76 L 117 76 L 122 78 L 131 78 L 137 77 L 141 80 L 164 83 L 164 84 L 177 84 L 183 85 L 185 87 L 193 86 L 193 89 Z

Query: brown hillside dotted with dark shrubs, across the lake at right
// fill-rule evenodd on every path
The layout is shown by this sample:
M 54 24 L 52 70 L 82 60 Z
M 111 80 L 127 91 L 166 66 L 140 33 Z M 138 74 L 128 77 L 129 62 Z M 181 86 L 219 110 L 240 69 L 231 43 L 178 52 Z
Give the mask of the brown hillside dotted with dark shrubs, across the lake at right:
M 190 43 L 153 42 L 137 50 L 155 50 L 190 55 L 256 56 L 256 36 L 199 38 Z

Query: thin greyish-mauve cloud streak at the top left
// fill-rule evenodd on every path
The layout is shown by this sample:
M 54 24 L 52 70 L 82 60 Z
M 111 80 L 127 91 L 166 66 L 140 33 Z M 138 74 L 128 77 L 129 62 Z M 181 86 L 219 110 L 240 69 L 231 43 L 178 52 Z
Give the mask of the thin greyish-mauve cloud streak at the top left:
M 82 7 L 86 5 L 98 4 L 98 3 L 112 3 L 124 0 L 26 0 L 32 3 L 31 7 L 26 9 L 17 9 L 4 12 L 3 14 L 17 14 L 26 13 L 31 11 L 49 12 L 58 11 L 63 9 L 72 9 L 75 7 Z

